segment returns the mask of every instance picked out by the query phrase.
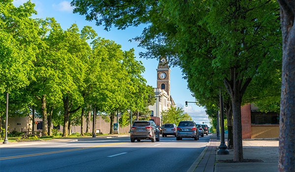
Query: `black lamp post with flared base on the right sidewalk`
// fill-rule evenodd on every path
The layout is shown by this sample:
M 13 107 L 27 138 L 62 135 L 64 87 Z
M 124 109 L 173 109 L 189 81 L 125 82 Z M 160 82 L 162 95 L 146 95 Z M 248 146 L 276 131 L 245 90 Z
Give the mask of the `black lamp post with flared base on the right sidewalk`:
M 217 150 L 218 155 L 228 155 L 230 151 L 227 149 L 228 146 L 225 144 L 224 140 L 224 116 L 223 116 L 223 97 L 221 95 L 221 90 L 219 89 L 219 101 L 220 101 L 220 128 L 221 128 L 221 142 L 219 145 L 219 150 Z

